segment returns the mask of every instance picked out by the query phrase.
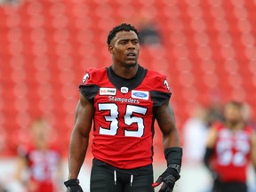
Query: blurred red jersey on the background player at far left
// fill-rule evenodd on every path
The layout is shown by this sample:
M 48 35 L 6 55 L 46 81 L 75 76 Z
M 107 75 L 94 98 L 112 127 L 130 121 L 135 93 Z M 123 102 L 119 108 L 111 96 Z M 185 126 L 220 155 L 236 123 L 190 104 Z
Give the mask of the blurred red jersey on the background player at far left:
M 22 156 L 28 161 L 29 179 L 36 186 L 33 192 L 54 192 L 54 179 L 59 172 L 60 151 L 54 146 L 40 150 L 29 145 L 22 148 Z

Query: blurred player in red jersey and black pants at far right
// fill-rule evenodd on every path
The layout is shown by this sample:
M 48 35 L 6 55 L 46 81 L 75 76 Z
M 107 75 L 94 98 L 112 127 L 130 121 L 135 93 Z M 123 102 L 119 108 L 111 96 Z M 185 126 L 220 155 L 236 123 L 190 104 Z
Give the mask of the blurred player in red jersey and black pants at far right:
M 243 111 L 243 103 L 228 102 L 224 123 L 212 124 L 209 132 L 204 164 L 214 178 L 213 192 L 246 192 L 247 167 L 256 167 L 256 136 Z

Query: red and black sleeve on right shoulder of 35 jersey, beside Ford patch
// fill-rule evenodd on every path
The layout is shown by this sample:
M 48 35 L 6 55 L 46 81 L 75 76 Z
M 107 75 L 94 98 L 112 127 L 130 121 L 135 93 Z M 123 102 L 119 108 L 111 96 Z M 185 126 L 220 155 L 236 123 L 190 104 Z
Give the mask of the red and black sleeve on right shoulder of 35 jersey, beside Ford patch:
M 151 99 L 154 103 L 153 107 L 159 107 L 162 106 L 164 102 L 170 100 L 172 92 L 170 92 L 166 76 L 156 76 L 154 84 L 154 90 L 150 92 Z

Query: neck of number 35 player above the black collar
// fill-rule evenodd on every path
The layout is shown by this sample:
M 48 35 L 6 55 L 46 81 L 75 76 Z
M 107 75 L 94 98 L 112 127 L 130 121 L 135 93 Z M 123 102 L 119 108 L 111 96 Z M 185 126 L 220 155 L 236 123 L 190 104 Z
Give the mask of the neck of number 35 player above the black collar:
M 116 76 L 120 76 L 125 79 L 131 79 L 137 74 L 138 64 L 131 67 L 112 65 L 111 68 Z

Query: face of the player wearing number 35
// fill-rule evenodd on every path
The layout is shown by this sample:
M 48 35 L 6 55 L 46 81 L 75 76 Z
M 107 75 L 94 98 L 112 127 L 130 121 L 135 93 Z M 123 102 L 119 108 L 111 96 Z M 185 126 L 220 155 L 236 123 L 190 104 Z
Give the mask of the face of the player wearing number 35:
M 140 52 L 138 36 L 134 31 L 120 31 L 108 46 L 113 64 L 132 67 L 137 64 Z

